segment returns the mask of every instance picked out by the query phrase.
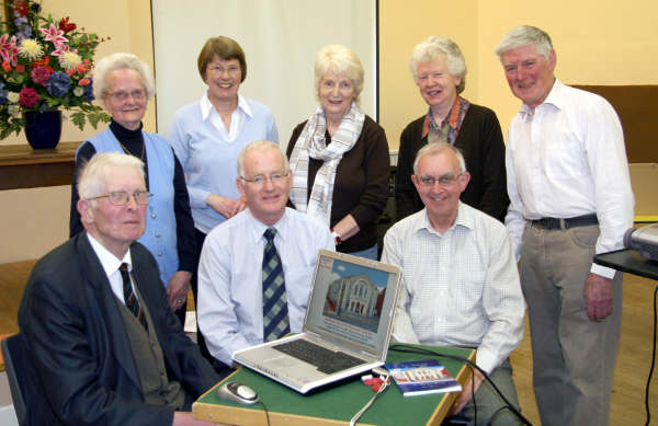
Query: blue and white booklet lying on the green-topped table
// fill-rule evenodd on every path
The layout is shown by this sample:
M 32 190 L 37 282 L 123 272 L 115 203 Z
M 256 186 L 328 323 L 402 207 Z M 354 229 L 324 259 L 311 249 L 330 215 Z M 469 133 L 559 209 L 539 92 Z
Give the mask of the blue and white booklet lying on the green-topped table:
M 460 392 L 462 385 L 436 359 L 389 362 L 386 368 L 405 396 Z

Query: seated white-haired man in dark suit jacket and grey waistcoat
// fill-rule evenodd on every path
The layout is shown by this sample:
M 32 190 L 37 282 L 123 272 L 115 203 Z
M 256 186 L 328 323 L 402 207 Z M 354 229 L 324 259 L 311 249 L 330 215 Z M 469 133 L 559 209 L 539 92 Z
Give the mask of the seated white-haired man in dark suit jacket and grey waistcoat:
M 78 181 L 84 231 L 34 266 L 19 325 L 30 425 L 211 425 L 192 402 L 219 378 L 169 308 L 145 230 L 144 163 L 94 156 Z

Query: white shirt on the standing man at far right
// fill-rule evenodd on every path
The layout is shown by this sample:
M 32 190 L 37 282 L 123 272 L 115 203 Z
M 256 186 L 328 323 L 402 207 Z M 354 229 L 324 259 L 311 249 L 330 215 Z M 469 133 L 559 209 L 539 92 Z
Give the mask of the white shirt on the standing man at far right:
M 634 198 L 624 134 L 603 97 L 555 80 L 534 113 L 514 116 L 506 150 L 510 208 L 506 224 L 517 258 L 526 220 L 595 214 L 601 234 L 597 253 L 623 247 L 633 227 Z M 612 278 L 615 270 L 592 264 Z

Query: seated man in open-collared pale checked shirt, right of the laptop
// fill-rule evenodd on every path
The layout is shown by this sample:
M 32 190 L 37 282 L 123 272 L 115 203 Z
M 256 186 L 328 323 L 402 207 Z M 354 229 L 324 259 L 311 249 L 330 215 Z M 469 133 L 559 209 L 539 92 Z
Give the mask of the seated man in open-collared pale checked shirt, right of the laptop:
M 517 407 L 510 353 L 523 337 L 525 308 L 506 228 L 460 202 L 470 175 L 462 153 L 444 142 L 418 151 L 411 181 L 424 209 L 394 224 L 382 262 L 402 268 L 394 325 L 399 342 L 477 348 L 477 365 Z M 484 377 L 475 373 L 451 414 L 468 424 L 519 424 Z M 475 404 L 472 395 L 475 393 Z M 476 408 L 474 410 L 474 405 Z

